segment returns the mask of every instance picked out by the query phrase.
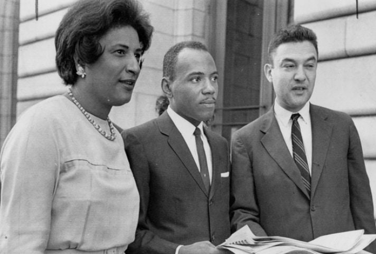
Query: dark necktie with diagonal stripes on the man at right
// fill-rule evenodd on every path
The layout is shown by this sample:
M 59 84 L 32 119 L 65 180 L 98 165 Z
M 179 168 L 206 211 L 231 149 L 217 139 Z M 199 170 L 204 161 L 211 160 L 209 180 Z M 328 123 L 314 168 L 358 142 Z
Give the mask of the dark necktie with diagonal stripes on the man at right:
M 311 177 L 309 175 L 309 168 L 307 163 L 307 157 L 305 156 L 304 144 L 302 139 L 302 132 L 298 123 L 300 114 L 292 114 L 292 127 L 291 127 L 291 140 L 292 140 L 292 153 L 294 156 L 295 164 L 298 166 L 300 173 L 302 174 L 302 180 L 305 189 L 308 192 L 308 196 L 311 192 Z

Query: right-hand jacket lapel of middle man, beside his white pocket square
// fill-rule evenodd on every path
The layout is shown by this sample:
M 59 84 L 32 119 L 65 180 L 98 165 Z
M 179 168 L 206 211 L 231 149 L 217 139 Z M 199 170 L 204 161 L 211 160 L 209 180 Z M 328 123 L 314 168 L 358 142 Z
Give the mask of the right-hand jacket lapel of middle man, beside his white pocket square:
M 219 154 L 219 150 L 216 149 L 217 147 L 219 147 L 218 139 L 216 139 L 210 131 L 206 131 L 205 128 L 204 128 L 204 132 L 208 139 L 210 149 L 211 149 L 212 177 L 211 177 L 211 187 L 210 187 L 210 194 L 209 194 L 209 198 L 211 199 L 214 196 L 216 185 L 221 180 L 221 175 L 220 175 L 221 173 L 219 171 L 219 169 L 221 168 L 221 166 L 219 165 L 219 162 L 221 161 L 220 159 L 221 154 Z

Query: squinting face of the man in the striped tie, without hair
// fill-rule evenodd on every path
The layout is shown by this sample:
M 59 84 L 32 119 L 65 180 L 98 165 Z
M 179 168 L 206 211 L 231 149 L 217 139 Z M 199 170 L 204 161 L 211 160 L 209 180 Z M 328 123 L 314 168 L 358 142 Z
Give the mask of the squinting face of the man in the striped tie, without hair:
M 315 86 L 317 52 L 309 41 L 281 44 L 266 64 L 265 75 L 273 83 L 276 101 L 283 108 L 298 112 L 312 95 Z

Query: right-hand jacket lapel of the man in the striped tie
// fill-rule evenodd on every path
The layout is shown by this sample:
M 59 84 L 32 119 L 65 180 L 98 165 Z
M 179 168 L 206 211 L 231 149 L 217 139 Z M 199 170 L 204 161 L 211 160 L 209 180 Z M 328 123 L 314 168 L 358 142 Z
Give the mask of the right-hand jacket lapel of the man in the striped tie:
M 311 104 L 309 113 L 312 125 L 311 196 L 313 197 L 327 157 L 332 125 L 326 121 L 328 115 L 319 107 Z

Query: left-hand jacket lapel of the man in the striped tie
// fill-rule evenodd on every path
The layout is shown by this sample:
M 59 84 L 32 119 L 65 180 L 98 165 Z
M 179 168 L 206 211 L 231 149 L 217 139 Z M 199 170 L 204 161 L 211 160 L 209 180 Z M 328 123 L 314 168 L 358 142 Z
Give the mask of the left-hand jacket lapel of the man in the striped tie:
M 261 143 L 270 154 L 270 156 L 277 162 L 283 172 L 298 186 L 299 189 L 309 199 L 305 190 L 301 174 L 296 166 L 286 143 L 284 142 L 282 132 L 278 126 L 277 119 L 274 116 L 273 107 L 266 113 L 260 130 L 265 133 L 261 138 Z

